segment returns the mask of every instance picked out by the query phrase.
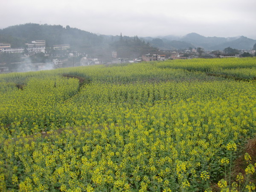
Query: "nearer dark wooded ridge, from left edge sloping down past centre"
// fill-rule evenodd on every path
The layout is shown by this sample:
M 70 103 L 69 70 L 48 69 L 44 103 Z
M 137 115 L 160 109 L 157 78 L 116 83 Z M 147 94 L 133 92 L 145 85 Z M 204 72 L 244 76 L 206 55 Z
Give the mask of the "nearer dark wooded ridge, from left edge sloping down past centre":
M 118 51 L 119 57 L 130 58 L 145 53 L 157 53 L 158 50 L 137 36 L 96 35 L 70 26 L 26 23 L 0 29 L 0 43 L 9 43 L 11 47 L 24 47 L 25 43 L 35 40 L 45 40 L 46 47 L 70 44 L 70 49 L 94 56 Z

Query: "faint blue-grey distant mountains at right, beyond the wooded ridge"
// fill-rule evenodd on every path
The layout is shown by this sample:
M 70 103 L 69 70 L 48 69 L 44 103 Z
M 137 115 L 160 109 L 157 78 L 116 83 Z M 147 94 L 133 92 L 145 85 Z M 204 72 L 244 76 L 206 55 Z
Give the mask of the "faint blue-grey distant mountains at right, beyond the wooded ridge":
M 183 37 L 168 35 L 164 37 L 143 38 L 152 46 L 159 49 L 188 49 L 189 47 L 201 47 L 205 50 L 223 50 L 227 47 L 233 49 L 252 49 L 256 40 L 244 36 L 221 38 L 221 37 L 204 37 L 197 33 L 189 33 Z

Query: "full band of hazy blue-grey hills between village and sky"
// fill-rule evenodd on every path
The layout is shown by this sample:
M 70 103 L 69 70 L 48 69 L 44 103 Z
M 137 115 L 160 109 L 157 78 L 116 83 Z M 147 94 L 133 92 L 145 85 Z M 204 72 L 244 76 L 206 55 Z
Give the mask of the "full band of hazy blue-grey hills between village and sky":
M 189 47 L 201 47 L 208 51 L 223 50 L 227 47 L 252 49 L 256 44 L 256 40 L 244 36 L 221 38 L 189 33 L 183 37 L 168 35 L 138 38 L 137 36 L 96 35 L 70 26 L 35 23 L 0 29 L 0 43 L 9 43 L 12 47 L 23 47 L 25 43 L 35 40 L 46 40 L 46 47 L 70 44 L 72 50 L 104 58 L 111 58 L 112 51 L 117 51 L 117 56 L 120 58 L 136 58 L 141 57 L 142 54 L 160 53 L 158 49 L 175 50 L 189 49 Z

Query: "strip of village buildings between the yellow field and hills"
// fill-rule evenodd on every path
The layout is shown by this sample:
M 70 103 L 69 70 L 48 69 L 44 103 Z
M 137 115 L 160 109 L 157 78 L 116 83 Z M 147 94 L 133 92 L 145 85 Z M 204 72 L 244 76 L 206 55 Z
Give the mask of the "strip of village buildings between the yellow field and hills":
M 48 48 L 48 47 L 47 47 Z M 45 56 L 53 56 L 52 62 L 48 63 L 21 63 L 22 70 L 15 71 L 27 71 L 27 70 L 46 70 L 46 69 L 56 69 L 63 66 L 63 62 L 67 62 L 67 60 L 73 60 L 73 65 L 70 66 L 88 66 L 88 65 L 96 65 L 96 64 L 122 64 L 122 63 L 138 63 L 141 61 L 165 61 L 166 59 L 192 59 L 192 58 L 226 58 L 226 57 L 239 57 L 239 54 L 224 54 L 224 52 L 205 52 L 204 49 L 201 48 L 190 48 L 188 50 L 158 50 L 160 54 L 144 54 L 139 58 L 118 58 L 118 52 L 112 51 L 110 52 L 110 59 L 99 59 L 95 57 L 88 56 L 85 53 L 81 53 L 78 51 L 70 50 L 70 44 L 62 44 L 62 45 L 53 45 L 49 47 L 46 51 L 46 41 L 45 40 L 35 40 L 31 41 L 31 43 L 24 44 L 24 47 L 13 48 L 11 44 L 0 43 L 0 53 L 21 53 L 24 54 L 25 57 L 29 58 L 29 56 L 34 55 L 35 53 L 42 52 Z M 198 52 L 200 50 L 200 52 Z M 52 55 L 51 53 L 55 52 L 57 54 Z M 241 52 L 249 52 L 250 54 L 254 54 L 256 50 L 241 50 Z M 62 55 L 60 55 L 60 53 Z M 67 57 L 67 58 L 63 58 Z M 55 57 L 55 58 L 54 58 Z M 63 58 L 62 61 L 60 58 Z M 74 58 L 79 57 L 80 62 L 74 63 Z M 73 58 L 73 59 L 72 59 Z M 69 66 L 69 67 L 70 67 Z M 14 71 L 14 70 L 12 70 Z M 9 73 L 8 66 L 0 66 L 0 73 Z

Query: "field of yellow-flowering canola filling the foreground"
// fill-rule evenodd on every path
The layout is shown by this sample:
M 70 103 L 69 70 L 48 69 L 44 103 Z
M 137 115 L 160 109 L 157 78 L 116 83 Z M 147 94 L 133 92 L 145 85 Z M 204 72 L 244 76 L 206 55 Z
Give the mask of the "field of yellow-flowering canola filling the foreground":
M 0 190 L 239 190 L 243 175 L 231 183 L 224 169 L 256 136 L 255 67 L 193 59 L 0 75 Z

